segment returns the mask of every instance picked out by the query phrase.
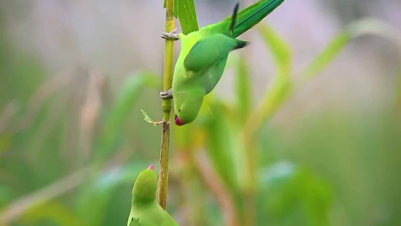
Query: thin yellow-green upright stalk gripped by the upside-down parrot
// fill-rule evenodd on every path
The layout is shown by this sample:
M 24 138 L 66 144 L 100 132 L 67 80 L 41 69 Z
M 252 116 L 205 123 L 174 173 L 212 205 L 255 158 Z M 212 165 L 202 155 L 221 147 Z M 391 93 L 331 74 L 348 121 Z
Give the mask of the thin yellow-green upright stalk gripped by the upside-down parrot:
M 174 29 L 174 0 L 166 1 L 166 32 Z M 173 58 L 174 58 L 174 41 L 166 39 L 164 47 L 164 75 L 163 90 L 169 90 L 173 79 Z M 167 186 L 168 186 L 168 164 L 170 158 L 170 111 L 171 99 L 162 101 L 163 109 L 163 128 L 162 128 L 162 144 L 160 146 L 160 166 L 157 200 L 160 206 L 166 209 L 167 203 Z

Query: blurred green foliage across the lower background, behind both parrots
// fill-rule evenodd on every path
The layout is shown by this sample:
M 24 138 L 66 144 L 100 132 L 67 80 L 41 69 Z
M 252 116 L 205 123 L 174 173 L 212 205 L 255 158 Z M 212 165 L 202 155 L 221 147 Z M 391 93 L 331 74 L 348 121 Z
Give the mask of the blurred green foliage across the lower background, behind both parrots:
M 399 225 L 399 111 L 377 103 L 374 112 L 310 115 L 288 125 L 292 134 L 267 126 L 348 41 L 365 33 L 389 37 L 389 29 L 369 21 L 346 27 L 294 76 L 300 80 L 293 80 L 286 41 L 267 25 L 257 29 L 275 62 L 275 81 L 253 103 L 252 68 L 237 57 L 235 101 L 211 93 L 196 121 L 172 126 L 168 211 L 181 225 L 245 225 L 255 173 L 255 225 Z M 18 77 L 0 76 L 0 112 L 11 109 L 1 115 L 9 116 L 0 128 L 0 226 L 124 225 L 136 176 L 158 161 L 160 128 L 144 122 L 139 109 L 157 115 L 160 100 L 138 97 L 157 94 L 160 77 L 136 72 L 114 95 L 107 77 L 92 76 L 91 68 L 47 78 L 40 63 L 13 52 L 5 39 L 0 56 L 16 59 L 2 60 L 0 73 Z

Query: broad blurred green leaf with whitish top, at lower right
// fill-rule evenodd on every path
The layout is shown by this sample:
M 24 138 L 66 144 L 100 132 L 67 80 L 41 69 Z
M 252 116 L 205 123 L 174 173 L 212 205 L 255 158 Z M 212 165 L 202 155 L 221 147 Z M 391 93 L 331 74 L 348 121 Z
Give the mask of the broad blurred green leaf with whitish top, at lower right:
M 332 187 L 310 170 L 277 162 L 261 171 L 260 181 L 260 221 L 268 217 L 273 225 L 329 225 Z

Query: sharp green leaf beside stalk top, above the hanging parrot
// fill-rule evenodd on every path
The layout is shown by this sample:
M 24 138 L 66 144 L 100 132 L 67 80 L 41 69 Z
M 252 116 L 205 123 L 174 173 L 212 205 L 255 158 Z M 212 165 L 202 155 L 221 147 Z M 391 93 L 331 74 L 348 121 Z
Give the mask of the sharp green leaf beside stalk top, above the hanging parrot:
M 187 35 L 192 31 L 198 31 L 199 27 L 196 18 L 194 0 L 180 0 L 179 3 L 180 4 L 178 4 L 178 19 L 180 20 L 182 33 L 184 33 L 184 35 Z

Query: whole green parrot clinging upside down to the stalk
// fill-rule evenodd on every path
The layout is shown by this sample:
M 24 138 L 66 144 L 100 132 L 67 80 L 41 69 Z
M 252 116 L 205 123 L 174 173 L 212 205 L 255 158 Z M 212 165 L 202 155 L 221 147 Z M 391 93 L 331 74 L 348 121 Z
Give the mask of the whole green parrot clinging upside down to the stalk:
M 184 125 L 197 117 L 203 98 L 213 90 L 223 74 L 230 51 L 247 45 L 236 39 L 272 12 L 284 0 L 261 0 L 232 16 L 187 35 L 162 33 L 162 38 L 181 40 L 181 51 L 174 68 L 172 89 L 160 92 L 163 99 L 174 98 L 175 122 Z

